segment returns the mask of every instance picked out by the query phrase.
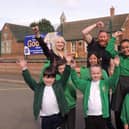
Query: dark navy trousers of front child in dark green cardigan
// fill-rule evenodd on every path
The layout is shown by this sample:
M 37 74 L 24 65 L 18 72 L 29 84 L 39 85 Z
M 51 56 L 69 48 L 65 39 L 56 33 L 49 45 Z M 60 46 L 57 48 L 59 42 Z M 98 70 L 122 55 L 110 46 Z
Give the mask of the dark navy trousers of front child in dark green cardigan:
M 61 123 L 60 114 L 41 117 L 41 129 L 61 129 Z

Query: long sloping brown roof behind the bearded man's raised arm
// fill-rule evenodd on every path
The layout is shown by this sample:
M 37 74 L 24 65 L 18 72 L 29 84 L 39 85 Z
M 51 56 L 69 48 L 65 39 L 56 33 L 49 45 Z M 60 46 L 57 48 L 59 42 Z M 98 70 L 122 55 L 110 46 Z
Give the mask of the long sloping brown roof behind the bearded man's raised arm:
M 105 24 L 104 30 L 107 32 L 115 32 L 121 29 L 127 16 L 129 14 L 115 15 L 113 17 L 100 17 L 88 20 L 80 20 L 75 22 L 65 22 L 62 25 L 63 36 L 65 40 L 79 40 L 82 39 L 81 31 L 97 21 L 103 21 Z M 96 37 L 98 29 L 94 29 L 91 34 Z

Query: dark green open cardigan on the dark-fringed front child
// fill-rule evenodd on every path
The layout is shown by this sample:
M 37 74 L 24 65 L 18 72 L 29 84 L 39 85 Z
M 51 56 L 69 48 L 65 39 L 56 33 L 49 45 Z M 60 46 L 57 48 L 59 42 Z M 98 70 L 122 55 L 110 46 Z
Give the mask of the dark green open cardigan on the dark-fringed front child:
M 62 116 L 64 116 L 69 111 L 68 104 L 66 102 L 65 95 L 64 95 L 64 88 L 69 78 L 70 69 L 71 69 L 70 66 L 66 66 L 61 79 L 59 81 L 55 81 L 55 83 L 52 86 L 55 92 L 59 110 Z M 45 84 L 43 82 L 37 83 L 31 77 L 28 70 L 23 71 L 23 77 L 25 82 L 34 92 L 33 113 L 34 113 L 35 119 L 37 119 L 42 105 L 42 97 L 43 97 Z

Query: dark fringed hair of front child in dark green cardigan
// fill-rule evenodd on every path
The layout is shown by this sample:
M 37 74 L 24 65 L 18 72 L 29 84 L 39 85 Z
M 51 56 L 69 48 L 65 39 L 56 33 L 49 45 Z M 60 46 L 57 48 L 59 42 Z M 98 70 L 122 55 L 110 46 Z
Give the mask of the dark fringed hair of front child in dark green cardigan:
M 56 77 L 56 69 L 52 66 L 49 66 L 47 67 L 44 72 L 43 72 L 43 77 L 46 76 L 46 77 L 53 77 L 55 78 Z

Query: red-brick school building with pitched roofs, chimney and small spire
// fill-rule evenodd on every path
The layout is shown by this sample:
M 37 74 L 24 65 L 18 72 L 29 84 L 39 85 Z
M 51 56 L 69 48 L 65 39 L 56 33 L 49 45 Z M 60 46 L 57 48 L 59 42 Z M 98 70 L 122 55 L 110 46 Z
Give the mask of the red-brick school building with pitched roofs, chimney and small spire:
M 120 29 L 124 29 L 122 38 L 129 39 L 129 13 L 115 15 L 115 8 L 110 8 L 110 15 L 106 17 L 99 17 L 93 19 L 86 19 L 80 21 L 67 22 L 64 13 L 60 17 L 60 26 L 57 31 L 61 32 L 67 41 L 66 47 L 68 52 L 75 53 L 77 58 L 86 58 L 86 43 L 82 38 L 81 31 L 83 28 L 103 21 L 106 30 L 110 35 Z M 91 32 L 94 37 L 97 37 L 98 29 Z M 30 27 L 5 23 L 1 30 L 0 42 L 0 58 L 15 59 L 24 55 L 24 37 L 32 35 L 33 32 Z M 119 41 L 120 39 L 118 39 Z M 31 55 L 30 59 L 42 59 L 44 55 Z

